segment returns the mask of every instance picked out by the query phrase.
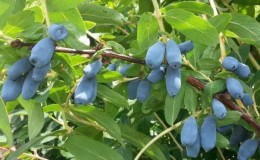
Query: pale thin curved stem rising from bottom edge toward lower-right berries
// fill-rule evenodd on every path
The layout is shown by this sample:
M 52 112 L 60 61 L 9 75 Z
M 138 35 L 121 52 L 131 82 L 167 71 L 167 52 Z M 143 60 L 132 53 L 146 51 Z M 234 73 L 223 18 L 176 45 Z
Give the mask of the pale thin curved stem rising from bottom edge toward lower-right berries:
M 182 122 L 178 122 L 175 125 L 171 126 L 170 128 L 167 128 L 166 130 L 164 130 L 163 132 L 161 132 L 160 134 L 158 134 L 156 137 L 154 137 L 151 141 L 149 141 L 141 150 L 140 152 L 136 155 L 136 157 L 134 158 L 134 160 L 138 160 L 141 155 L 145 152 L 145 150 L 147 148 L 149 148 L 154 142 L 156 142 L 158 139 L 160 139 L 162 136 L 164 136 L 165 134 L 171 132 L 172 130 L 180 127 L 182 124 Z

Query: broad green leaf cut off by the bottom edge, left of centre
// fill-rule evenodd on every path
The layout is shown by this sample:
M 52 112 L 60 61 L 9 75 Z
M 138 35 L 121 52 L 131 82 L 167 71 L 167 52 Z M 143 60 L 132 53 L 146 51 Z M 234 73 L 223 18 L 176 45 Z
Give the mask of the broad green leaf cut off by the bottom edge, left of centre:
M 121 155 L 104 143 L 83 135 L 71 135 L 64 147 L 77 159 L 123 160 Z

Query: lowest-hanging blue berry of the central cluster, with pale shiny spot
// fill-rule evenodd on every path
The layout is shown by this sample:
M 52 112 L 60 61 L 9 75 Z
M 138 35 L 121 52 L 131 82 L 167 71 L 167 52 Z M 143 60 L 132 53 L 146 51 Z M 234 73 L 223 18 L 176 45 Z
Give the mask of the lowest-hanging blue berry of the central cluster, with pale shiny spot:
M 176 96 L 181 88 L 181 70 L 167 67 L 165 75 L 166 89 L 170 96 Z

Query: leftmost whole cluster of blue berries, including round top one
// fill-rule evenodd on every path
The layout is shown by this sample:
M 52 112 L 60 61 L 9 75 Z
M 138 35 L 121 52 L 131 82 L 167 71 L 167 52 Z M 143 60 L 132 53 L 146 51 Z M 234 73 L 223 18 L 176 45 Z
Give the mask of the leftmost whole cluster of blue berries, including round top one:
M 48 28 L 50 37 L 41 39 L 31 50 L 29 57 L 16 61 L 7 71 L 7 79 L 1 91 L 4 101 L 13 101 L 21 94 L 22 98 L 32 98 L 40 83 L 51 68 L 51 58 L 55 51 L 55 41 L 68 35 L 67 29 L 59 24 Z

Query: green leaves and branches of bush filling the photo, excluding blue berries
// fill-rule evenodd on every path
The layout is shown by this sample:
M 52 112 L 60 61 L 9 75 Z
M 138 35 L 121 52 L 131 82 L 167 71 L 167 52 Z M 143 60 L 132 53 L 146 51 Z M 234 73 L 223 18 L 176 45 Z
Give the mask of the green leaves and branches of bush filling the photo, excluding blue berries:
M 210 115 L 218 128 L 215 147 L 200 148 L 197 159 L 236 159 L 243 141 L 260 135 L 259 5 L 258 0 L 0 0 L 0 88 L 10 66 L 48 37 L 48 26 L 68 30 L 56 42 L 51 69 L 31 99 L 0 97 L 1 158 L 185 159 L 180 140 L 185 120 L 195 117 L 200 127 Z M 170 96 L 162 79 L 151 84 L 145 101 L 130 100 L 129 81 L 151 72 L 144 64 L 148 48 L 168 39 L 194 45 L 182 55 L 180 91 Z M 226 56 L 248 65 L 250 76 L 225 70 Z M 100 58 L 95 101 L 75 104 L 84 67 Z M 129 68 L 122 75 L 106 69 L 111 63 Z M 226 92 L 230 77 L 252 97 L 252 106 Z M 213 114 L 214 97 L 228 101 L 221 120 Z M 219 129 L 228 125 L 225 132 Z M 237 126 L 243 134 L 231 144 Z M 251 158 L 260 159 L 259 145 Z

